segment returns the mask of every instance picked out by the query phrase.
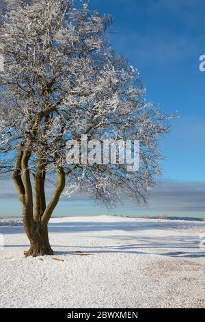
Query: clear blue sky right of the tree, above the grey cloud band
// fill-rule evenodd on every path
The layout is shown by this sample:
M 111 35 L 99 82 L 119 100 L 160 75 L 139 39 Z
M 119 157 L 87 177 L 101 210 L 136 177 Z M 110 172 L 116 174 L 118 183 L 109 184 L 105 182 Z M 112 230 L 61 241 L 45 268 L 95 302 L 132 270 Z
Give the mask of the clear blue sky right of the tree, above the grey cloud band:
M 139 69 L 147 98 L 178 111 L 163 140 L 164 179 L 205 181 L 205 0 L 93 0 L 115 17 L 109 34 L 116 53 Z

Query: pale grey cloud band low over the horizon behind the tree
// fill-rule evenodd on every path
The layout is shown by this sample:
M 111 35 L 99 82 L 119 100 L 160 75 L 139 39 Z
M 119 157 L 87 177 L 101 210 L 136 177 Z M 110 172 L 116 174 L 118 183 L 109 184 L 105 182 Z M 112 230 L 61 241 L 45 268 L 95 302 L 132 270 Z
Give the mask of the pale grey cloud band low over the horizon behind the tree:
M 46 199 L 53 194 L 53 186 L 46 187 Z M 146 206 L 139 206 L 124 200 L 124 205 L 117 205 L 112 210 L 95 206 L 94 200 L 87 195 L 74 193 L 70 198 L 62 196 L 53 216 L 92 216 L 100 214 L 118 214 L 124 216 L 167 216 L 199 217 L 205 219 L 205 183 L 162 181 L 153 188 Z M 0 186 L 0 217 L 20 217 L 22 210 L 16 195 L 12 179 L 1 180 Z

